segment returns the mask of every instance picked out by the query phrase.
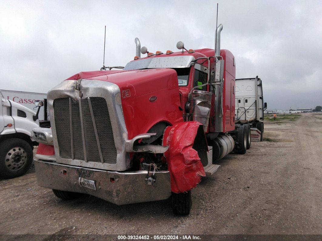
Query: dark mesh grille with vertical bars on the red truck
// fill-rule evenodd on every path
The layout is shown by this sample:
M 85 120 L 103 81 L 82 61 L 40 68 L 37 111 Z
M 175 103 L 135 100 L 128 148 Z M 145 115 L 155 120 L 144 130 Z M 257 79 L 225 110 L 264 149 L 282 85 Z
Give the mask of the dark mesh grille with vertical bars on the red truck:
M 58 98 L 53 102 L 60 157 L 86 159 L 87 162 L 103 160 L 103 163 L 116 164 L 117 151 L 106 100 L 102 97 L 90 97 L 90 101 L 88 98 L 80 101 L 81 103 L 71 98 Z

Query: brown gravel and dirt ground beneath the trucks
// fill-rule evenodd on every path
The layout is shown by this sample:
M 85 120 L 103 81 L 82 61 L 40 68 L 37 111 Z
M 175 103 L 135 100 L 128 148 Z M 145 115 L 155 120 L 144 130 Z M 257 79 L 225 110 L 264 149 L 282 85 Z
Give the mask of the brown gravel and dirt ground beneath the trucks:
M 245 155 L 230 154 L 192 191 L 187 217 L 170 200 L 116 206 L 62 201 L 33 170 L 0 180 L 2 234 L 322 234 L 322 116 L 265 123 Z

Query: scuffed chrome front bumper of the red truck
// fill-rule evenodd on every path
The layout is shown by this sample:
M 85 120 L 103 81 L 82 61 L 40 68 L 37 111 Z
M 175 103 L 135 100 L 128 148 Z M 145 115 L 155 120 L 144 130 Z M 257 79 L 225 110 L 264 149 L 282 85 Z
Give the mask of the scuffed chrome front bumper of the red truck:
M 147 185 L 147 171 L 105 171 L 43 160 L 35 161 L 35 169 L 41 187 L 87 193 L 116 205 L 164 200 L 171 196 L 169 171 L 156 172 L 154 185 Z M 95 181 L 96 190 L 81 187 L 80 177 Z

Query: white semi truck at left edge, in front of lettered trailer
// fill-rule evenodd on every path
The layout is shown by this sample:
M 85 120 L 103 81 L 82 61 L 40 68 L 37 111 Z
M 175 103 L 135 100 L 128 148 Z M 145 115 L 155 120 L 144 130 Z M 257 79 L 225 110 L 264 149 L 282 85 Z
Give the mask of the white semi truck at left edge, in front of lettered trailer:
M 8 100 L 1 91 L 0 97 L 0 178 L 14 178 L 26 173 L 33 162 L 33 146 L 38 143 L 31 131 L 39 121 L 34 111 Z M 39 109 L 43 102 L 35 104 Z

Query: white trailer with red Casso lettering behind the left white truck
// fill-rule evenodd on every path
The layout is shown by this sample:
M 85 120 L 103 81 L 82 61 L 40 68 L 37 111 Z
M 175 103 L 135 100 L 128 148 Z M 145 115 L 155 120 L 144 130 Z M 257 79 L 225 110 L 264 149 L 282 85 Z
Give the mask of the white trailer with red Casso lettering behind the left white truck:
M 0 89 L 0 91 L 2 92 L 5 99 L 11 100 L 34 111 L 37 111 L 37 107 L 35 107 L 35 101 L 42 100 L 44 106 L 39 110 L 39 125 L 41 127 L 50 127 L 46 93 L 24 92 L 5 89 Z

